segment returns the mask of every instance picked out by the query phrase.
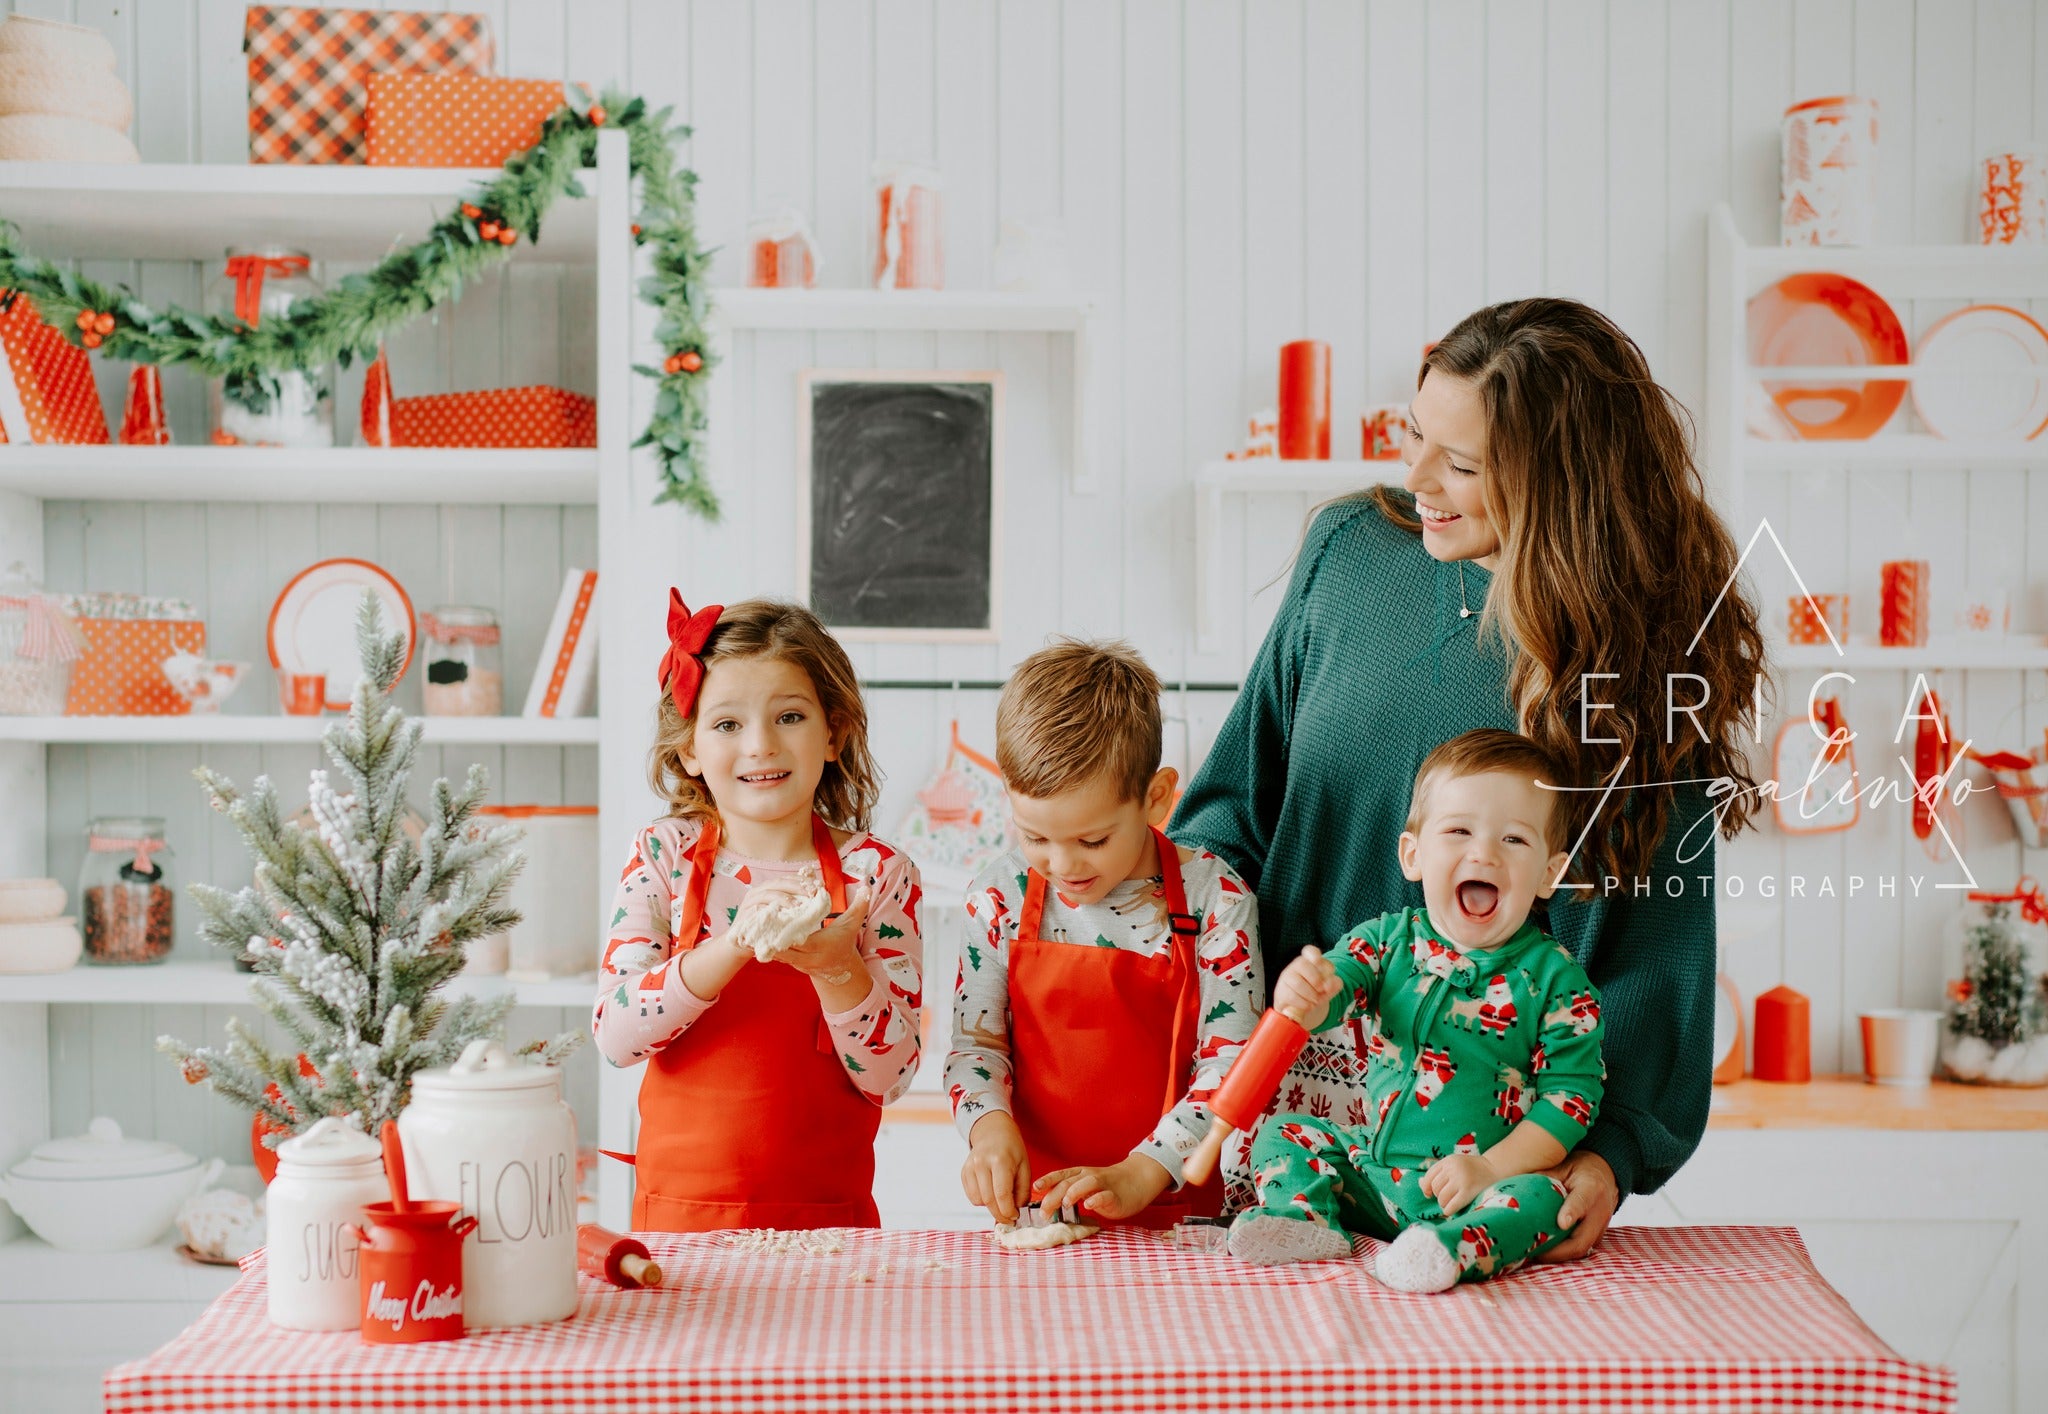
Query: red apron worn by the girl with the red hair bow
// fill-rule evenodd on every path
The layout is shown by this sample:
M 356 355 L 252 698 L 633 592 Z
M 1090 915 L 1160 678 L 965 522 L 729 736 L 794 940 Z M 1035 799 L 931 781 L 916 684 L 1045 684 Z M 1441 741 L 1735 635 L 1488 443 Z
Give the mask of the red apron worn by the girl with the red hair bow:
M 811 842 L 838 916 L 846 875 L 815 816 Z M 717 855 L 719 826 L 707 820 L 690 846 L 678 957 L 696 947 Z M 881 1228 L 879 1127 L 881 1107 L 846 1078 L 811 980 L 795 967 L 741 967 L 719 1004 L 649 1062 L 633 1228 Z

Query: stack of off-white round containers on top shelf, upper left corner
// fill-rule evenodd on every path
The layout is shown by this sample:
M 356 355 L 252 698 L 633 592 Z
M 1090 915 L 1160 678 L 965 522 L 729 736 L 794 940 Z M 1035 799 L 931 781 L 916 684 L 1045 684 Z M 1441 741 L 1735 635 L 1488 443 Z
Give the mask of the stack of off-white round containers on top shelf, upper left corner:
M 0 25 L 0 160 L 141 162 L 133 117 L 106 35 L 29 14 Z

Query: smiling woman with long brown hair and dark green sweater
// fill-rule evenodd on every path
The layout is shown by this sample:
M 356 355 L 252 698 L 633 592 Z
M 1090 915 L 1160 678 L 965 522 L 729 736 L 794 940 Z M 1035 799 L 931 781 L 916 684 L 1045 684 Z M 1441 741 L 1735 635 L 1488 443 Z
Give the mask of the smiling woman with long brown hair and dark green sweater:
M 1569 762 L 1577 848 L 1548 926 L 1602 990 L 1608 1096 L 1552 1170 L 1573 1240 L 1548 1260 L 1567 1260 L 1706 1127 L 1714 832 L 1733 838 L 1755 805 L 1743 738 L 1763 639 L 1741 588 L 1722 598 L 1737 549 L 1683 414 L 1599 311 L 1468 316 L 1423 359 L 1409 422 L 1405 492 L 1315 518 L 1174 838 L 1257 891 L 1272 978 L 1421 906 L 1395 840 L 1438 742 L 1513 727 Z M 1284 1109 L 1364 1123 L 1352 1027 L 1311 1043 Z

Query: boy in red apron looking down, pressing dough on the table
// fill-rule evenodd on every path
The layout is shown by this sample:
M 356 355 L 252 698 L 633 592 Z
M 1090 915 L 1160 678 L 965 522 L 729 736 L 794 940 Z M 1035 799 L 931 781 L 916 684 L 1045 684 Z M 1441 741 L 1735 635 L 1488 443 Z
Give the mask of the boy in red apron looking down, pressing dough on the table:
M 1124 643 L 1055 639 L 1004 687 L 1018 846 L 969 889 L 946 1057 L 961 1182 L 997 1221 L 1221 1211 L 1180 1166 L 1266 1004 L 1257 906 L 1155 828 L 1176 785 L 1159 754 L 1159 678 Z

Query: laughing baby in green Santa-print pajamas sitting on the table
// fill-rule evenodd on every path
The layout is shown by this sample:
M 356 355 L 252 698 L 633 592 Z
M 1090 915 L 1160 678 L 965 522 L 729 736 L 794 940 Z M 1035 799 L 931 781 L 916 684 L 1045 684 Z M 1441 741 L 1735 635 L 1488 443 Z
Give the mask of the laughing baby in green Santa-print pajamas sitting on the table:
M 1331 957 L 1305 949 L 1274 1006 L 1327 1031 L 1374 1018 L 1356 1129 L 1272 1115 L 1251 1143 L 1257 1207 L 1231 1228 L 1247 1262 L 1348 1256 L 1346 1230 L 1393 1238 L 1374 1275 L 1446 1291 L 1563 1240 L 1544 1176 L 1599 1111 L 1599 992 L 1528 914 L 1569 863 L 1540 746 L 1466 732 L 1415 773 L 1401 873 L 1425 908 L 1382 914 Z

